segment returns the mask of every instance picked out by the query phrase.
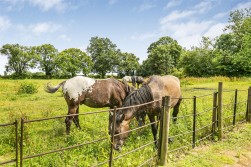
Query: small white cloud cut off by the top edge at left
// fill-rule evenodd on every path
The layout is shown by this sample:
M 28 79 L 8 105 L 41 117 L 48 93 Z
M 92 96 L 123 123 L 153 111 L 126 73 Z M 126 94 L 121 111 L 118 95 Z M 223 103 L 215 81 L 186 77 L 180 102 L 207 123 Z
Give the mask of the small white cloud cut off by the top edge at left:
M 29 0 L 29 2 L 41 8 L 43 11 L 55 9 L 56 11 L 62 12 L 66 10 L 68 6 L 63 0 Z

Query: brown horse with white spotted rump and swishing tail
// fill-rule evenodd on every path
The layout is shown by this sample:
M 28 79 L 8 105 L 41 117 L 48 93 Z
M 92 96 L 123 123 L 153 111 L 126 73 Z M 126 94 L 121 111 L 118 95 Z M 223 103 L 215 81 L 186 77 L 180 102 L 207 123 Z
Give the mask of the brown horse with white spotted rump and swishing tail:
M 47 83 L 45 91 L 55 93 L 61 86 L 68 105 L 68 115 L 78 114 L 79 105 L 81 104 L 93 108 L 120 107 L 126 96 L 134 90 L 133 87 L 113 78 L 95 80 L 93 78 L 76 76 L 59 83 L 57 86 L 51 86 L 50 83 Z M 109 121 L 111 121 L 110 117 Z M 81 129 L 78 115 L 68 116 L 65 119 L 67 134 L 70 133 L 72 120 L 76 127 Z M 110 131 L 109 127 L 108 130 Z

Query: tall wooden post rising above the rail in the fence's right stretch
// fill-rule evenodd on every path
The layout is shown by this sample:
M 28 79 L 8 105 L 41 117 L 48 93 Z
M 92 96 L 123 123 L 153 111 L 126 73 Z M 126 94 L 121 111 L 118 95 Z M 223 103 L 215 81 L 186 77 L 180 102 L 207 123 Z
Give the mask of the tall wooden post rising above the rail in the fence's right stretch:
M 222 117 L 222 88 L 223 83 L 218 83 L 218 110 L 217 110 L 217 116 L 218 116 L 218 138 L 221 141 L 223 136 L 223 117 Z

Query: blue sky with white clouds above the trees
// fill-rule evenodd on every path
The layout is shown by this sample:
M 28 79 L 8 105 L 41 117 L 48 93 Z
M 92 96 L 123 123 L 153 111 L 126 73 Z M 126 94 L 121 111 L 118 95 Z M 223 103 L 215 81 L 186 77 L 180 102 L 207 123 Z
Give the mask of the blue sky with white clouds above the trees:
M 202 36 L 224 33 L 230 11 L 249 7 L 251 0 L 0 0 L 0 47 L 52 44 L 59 51 L 86 51 L 98 36 L 142 62 L 160 37 L 186 49 L 199 46 Z M 6 63 L 0 55 L 0 75 Z

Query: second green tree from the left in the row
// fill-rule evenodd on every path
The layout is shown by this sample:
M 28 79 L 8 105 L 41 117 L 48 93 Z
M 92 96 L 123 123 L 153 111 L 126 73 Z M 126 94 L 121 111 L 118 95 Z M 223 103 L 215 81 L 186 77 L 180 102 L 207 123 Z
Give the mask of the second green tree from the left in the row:
M 51 78 L 51 75 L 56 71 L 58 50 L 51 44 L 35 46 L 33 50 L 39 56 L 39 69 L 44 71 L 47 77 Z

